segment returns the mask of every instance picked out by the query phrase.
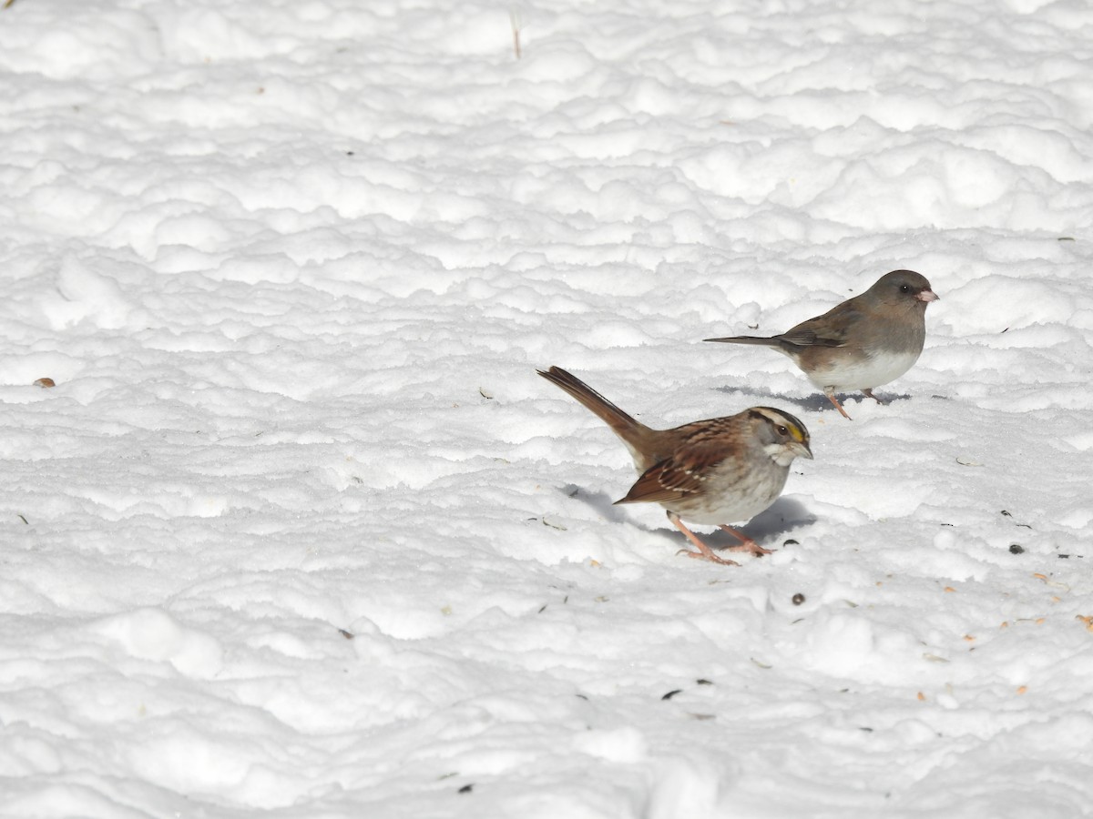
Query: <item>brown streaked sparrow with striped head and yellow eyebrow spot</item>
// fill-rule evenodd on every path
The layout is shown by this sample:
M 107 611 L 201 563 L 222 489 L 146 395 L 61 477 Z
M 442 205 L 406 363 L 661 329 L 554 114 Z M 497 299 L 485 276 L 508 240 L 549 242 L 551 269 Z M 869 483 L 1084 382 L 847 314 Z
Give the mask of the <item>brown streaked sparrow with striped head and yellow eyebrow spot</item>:
M 809 430 L 789 413 L 753 406 L 737 415 L 651 429 L 560 367 L 538 370 L 587 406 L 622 439 L 640 473 L 626 497 L 615 503 L 660 503 L 668 520 L 698 551 L 690 557 L 739 566 L 714 554 L 681 518 L 716 524 L 740 541 L 731 551 L 768 555 L 750 537 L 725 525 L 747 521 L 781 494 L 795 458 L 812 458 Z

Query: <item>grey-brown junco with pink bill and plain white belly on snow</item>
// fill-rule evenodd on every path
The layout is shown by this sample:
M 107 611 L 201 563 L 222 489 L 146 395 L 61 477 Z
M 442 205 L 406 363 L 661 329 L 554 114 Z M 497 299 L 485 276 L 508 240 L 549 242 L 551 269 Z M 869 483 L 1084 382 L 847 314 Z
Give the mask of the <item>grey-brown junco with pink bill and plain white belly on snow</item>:
M 860 390 L 883 404 L 873 388 L 900 378 L 918 360 L 926 341 L 926 306 L 937 299 L 926 276 L 894 270 L 860 296 L 780 335 L 706 341 L 760 344 L 784 353 L 849 420 L 835 393 Z

